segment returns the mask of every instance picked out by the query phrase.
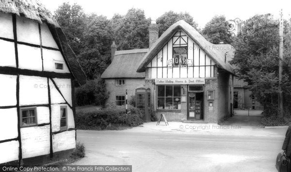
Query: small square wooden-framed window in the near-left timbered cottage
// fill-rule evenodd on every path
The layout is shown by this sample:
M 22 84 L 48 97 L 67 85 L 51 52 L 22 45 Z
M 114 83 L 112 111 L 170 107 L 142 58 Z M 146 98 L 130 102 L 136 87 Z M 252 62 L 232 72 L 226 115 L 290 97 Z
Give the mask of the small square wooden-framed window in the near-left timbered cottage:
M 37 113 L 36 107 L 20 108 L 20 126 L 32 126 L 37 125 Z

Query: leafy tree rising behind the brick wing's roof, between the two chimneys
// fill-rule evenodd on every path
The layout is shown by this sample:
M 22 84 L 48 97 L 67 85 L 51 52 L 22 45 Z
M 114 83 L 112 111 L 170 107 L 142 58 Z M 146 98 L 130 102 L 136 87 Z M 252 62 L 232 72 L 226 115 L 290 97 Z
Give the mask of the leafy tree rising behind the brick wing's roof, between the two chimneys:
M 144 10 L 131 8 L 125 16 L 115 14 L 111 22 L 119 50 L 148 48 L 150 19 L 146 18 Z

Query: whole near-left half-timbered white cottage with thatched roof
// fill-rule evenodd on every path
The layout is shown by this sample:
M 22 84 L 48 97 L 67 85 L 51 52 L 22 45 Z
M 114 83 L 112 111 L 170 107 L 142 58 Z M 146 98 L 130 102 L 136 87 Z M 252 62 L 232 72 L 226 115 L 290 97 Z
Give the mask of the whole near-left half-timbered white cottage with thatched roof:
M 37 0 L 0 2 L 0 164 L 37 165 L 76 146 L 74 81 L 86 76 Z

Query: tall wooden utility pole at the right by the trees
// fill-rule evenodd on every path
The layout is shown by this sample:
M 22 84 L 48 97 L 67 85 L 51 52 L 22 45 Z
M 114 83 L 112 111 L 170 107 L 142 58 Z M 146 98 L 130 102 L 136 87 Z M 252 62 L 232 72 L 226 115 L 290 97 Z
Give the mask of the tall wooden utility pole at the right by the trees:
M 280 12 L 280 23 L 279 23 L 279 86 L 278 86 L 278 109 L 279 118 L 283 118 L 283 93 L 282 93 L 282 60 L 283 60 L 283 12 Z

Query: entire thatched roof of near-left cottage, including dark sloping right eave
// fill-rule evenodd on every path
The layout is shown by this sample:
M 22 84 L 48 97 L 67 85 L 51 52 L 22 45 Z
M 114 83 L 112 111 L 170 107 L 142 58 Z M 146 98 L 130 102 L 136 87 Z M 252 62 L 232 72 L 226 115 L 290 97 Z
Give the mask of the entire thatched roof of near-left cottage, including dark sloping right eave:
M 39 23 L 48 23 L 49 30 L 60 48 L 72 75 L 80 85 L 86 83 L 85 72 L 82 70 L 75 53 L 68 45 L 64 32 L 49 10 L 44 8 L 38 0 L 0 0 L 0 13 L 16 14 L 37 20 Z

